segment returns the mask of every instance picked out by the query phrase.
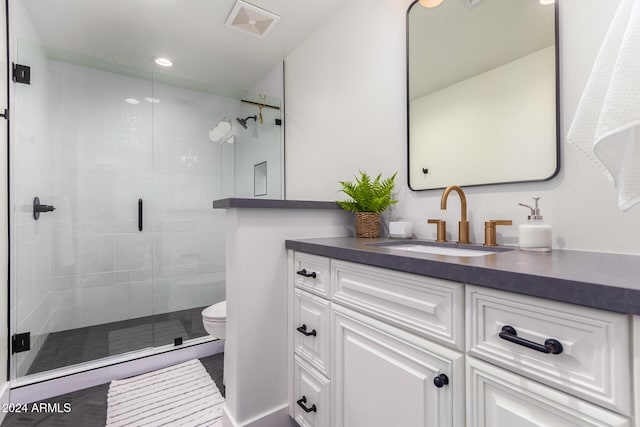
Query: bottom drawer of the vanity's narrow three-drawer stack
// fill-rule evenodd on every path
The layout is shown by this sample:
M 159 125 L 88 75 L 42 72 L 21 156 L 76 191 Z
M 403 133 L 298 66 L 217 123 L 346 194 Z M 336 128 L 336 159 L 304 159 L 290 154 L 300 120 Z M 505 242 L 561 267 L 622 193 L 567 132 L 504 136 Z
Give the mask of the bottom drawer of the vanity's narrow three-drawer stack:
M 329 427 L 329 380 L 298 356 L 294 359 L 293 418 L 302 427 Z

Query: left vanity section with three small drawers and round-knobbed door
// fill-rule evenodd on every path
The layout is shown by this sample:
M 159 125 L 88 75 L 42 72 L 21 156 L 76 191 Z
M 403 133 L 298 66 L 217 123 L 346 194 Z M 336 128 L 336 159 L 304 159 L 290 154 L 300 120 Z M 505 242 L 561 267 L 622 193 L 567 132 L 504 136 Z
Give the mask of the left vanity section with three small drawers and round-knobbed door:
M 462 284 L 293 251 L 289 266 L 298 424 L 464 426 Z

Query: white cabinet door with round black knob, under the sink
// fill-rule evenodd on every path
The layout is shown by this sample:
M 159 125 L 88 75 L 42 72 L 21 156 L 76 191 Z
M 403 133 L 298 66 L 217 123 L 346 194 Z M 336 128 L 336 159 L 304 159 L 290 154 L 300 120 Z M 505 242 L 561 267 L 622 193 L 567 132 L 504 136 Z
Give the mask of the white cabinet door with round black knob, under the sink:
M 337 304 L 332 313 L 332 426 L 464 425 L 460 353 Z

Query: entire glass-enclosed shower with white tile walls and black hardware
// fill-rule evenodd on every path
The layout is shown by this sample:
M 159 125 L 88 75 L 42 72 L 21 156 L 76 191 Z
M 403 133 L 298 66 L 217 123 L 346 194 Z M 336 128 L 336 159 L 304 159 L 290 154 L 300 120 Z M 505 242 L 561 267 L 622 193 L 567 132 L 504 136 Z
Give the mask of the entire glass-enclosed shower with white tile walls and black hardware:
M 15 59 L 10 322 L 30 348 L 12 378 L 206 337 L 201 311 L 225 299 L 211 202 L 281 197 L 280 100 L 33 40 Z

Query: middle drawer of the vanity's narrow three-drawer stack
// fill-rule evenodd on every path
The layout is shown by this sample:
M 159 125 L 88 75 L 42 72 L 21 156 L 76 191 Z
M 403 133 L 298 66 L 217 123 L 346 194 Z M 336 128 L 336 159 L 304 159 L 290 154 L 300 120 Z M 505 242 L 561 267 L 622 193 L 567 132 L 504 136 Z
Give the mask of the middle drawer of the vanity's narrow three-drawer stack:
M 295 352 L 329 376 L 331 302 L 296 289 L 293 318 Z

